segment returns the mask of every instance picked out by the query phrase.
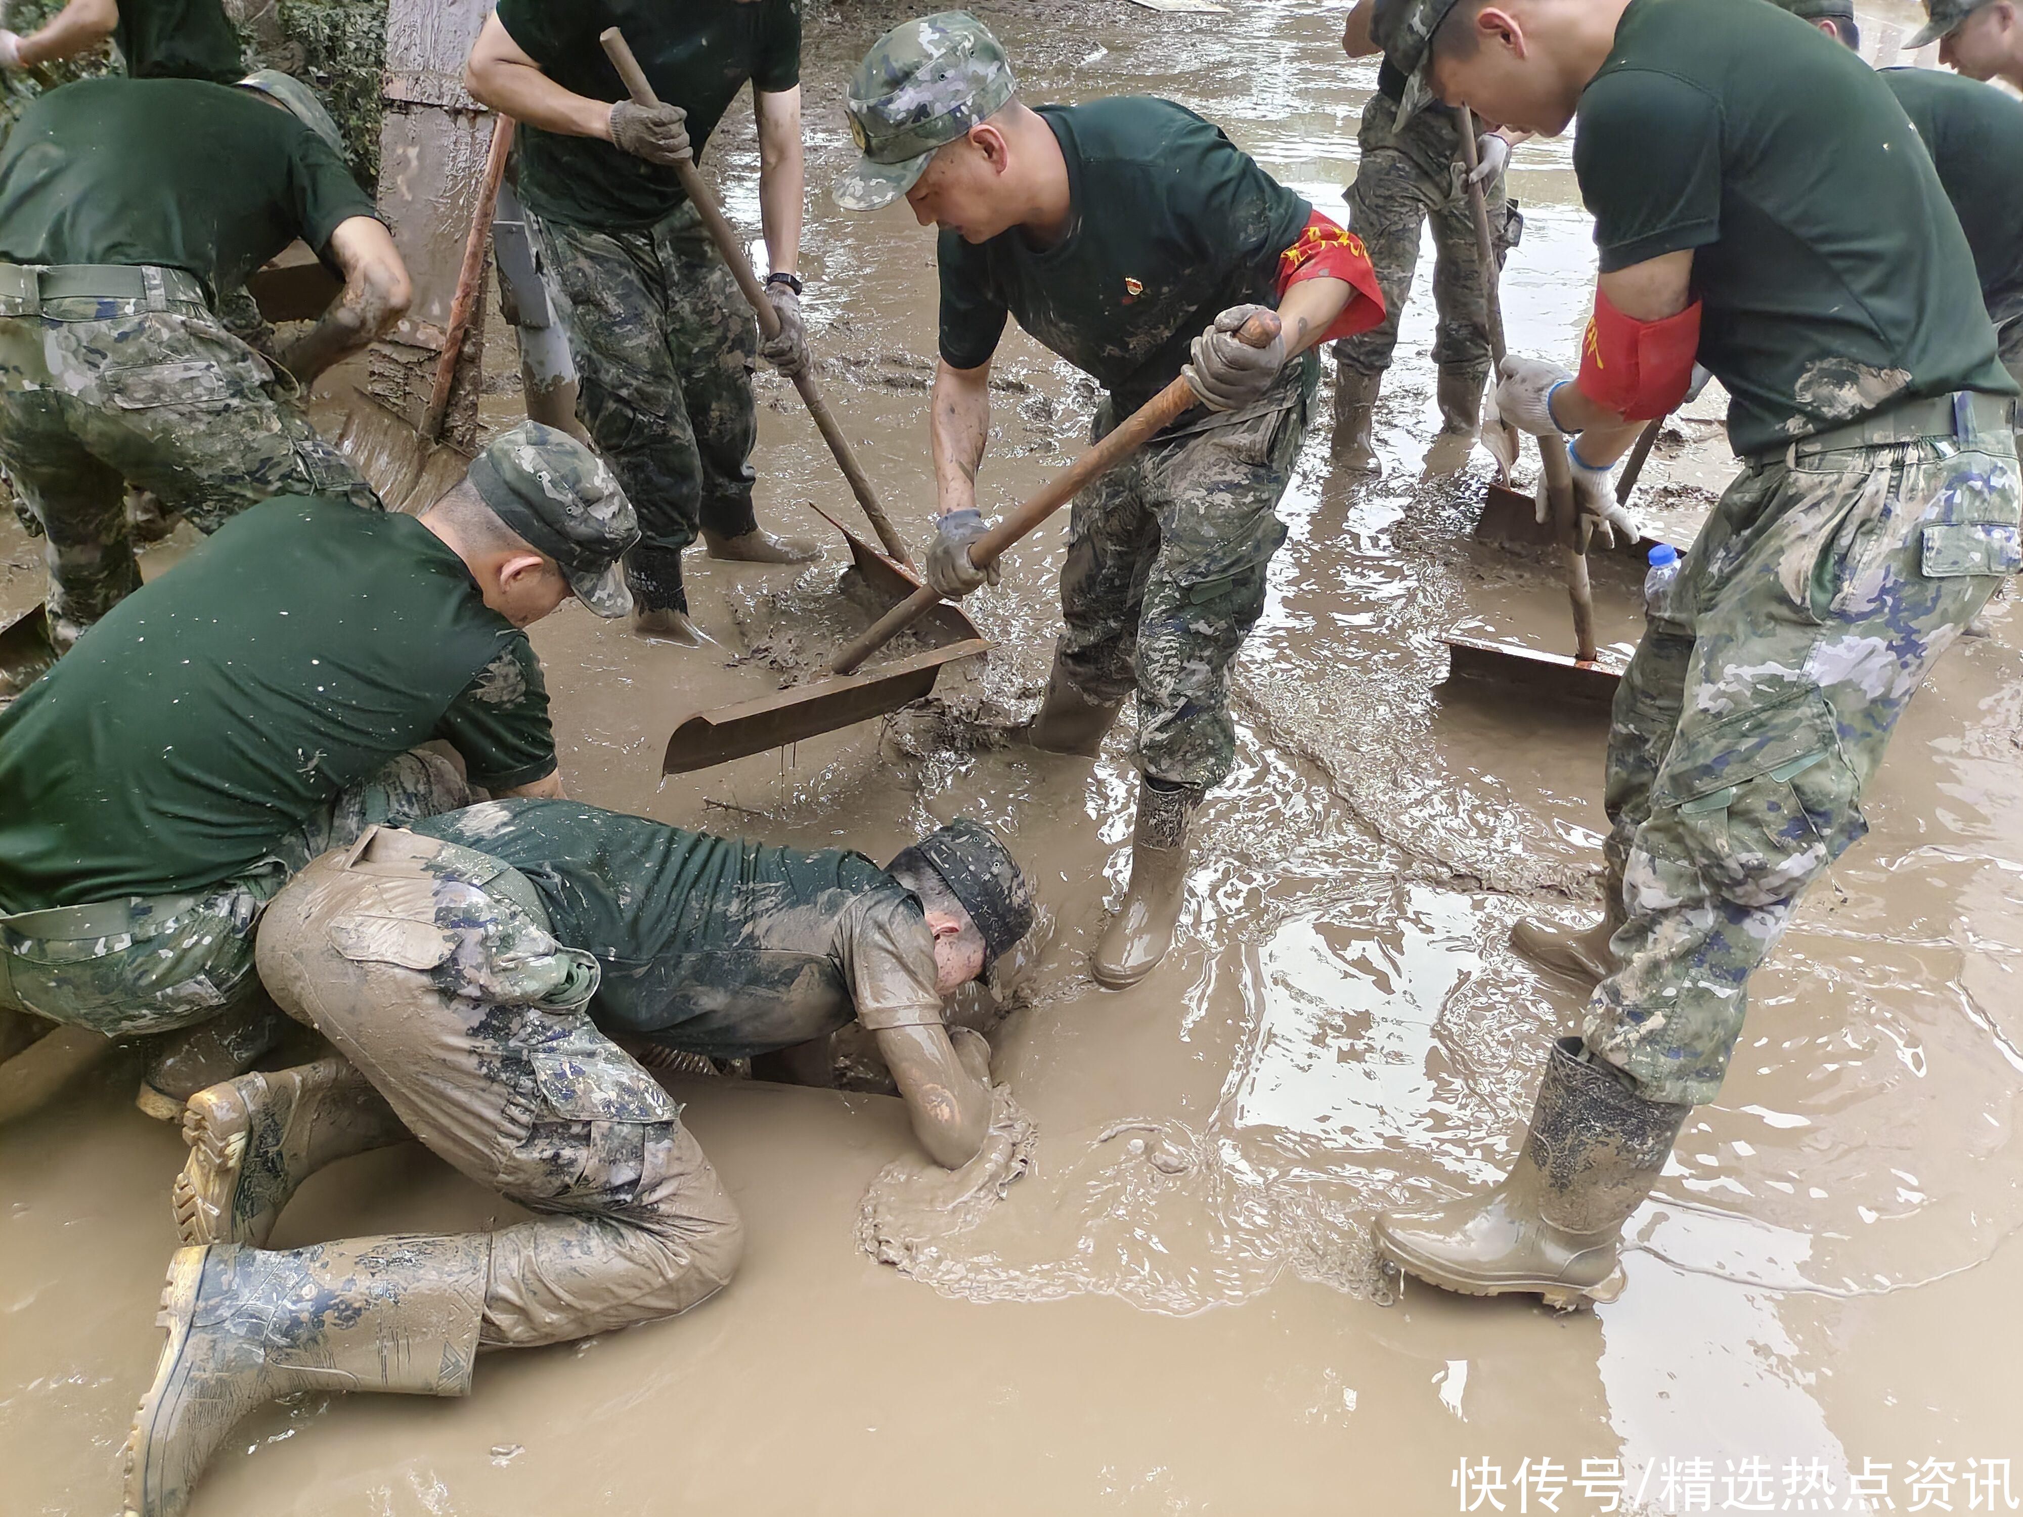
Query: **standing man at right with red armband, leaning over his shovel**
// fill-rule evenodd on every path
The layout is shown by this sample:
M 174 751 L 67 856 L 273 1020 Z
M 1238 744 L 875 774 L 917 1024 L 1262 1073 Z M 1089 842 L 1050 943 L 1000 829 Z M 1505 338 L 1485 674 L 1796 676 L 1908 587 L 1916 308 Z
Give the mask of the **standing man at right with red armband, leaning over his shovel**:
M 1503 12 L 1396 4 L 1404 109 L 1438 85 L 1511 127 L 1558 133 L 1580 111 L 1600 249 L 1582 370 L 1507 358 L 1505 421 L 1572 435 L 1578 508 L 1598 520 L 1614 459 L 1697 356 L 1746 461 L 1616 694 L 1608 920 L 1584 941 L 1515 934 L 1604 971 L 1580 1036 L 1550 1052 L 1501 1185 L 1376 1230 L 1450 1290 L 1606 1301 L 1622 1226 L 1722 1086 L 1750 975 L 1863 835 L 1861 795 L 1918 684 L 2023 564 L 2017 386 L 1904 109 L 1805 22 L 1758 0 L 1604 0 L 1531 30 L 1499 79 L 1483 61 L 1509 57 L 1491 40 Z

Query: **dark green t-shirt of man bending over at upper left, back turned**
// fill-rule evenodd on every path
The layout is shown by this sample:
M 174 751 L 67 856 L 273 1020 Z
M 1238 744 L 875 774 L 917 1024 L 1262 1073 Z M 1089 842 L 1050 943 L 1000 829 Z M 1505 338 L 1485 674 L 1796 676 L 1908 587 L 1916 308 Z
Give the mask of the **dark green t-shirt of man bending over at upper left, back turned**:
M 233 289 L 297 237 L 318 253 L 372 198 L 322 138 L 251 89 L 85 79 L 0 148 L 0 261 L 160 263 Z

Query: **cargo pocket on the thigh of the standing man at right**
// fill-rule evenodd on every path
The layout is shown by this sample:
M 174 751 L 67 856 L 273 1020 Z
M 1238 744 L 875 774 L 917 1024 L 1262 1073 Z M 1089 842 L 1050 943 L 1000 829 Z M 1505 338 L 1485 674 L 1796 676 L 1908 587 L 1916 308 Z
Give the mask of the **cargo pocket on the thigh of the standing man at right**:
M 1651 803 L 1675 811 L 1693 866 L 1738 906 L 1790 900 L 1867 831 L 1817 690 L 1681 734 Z

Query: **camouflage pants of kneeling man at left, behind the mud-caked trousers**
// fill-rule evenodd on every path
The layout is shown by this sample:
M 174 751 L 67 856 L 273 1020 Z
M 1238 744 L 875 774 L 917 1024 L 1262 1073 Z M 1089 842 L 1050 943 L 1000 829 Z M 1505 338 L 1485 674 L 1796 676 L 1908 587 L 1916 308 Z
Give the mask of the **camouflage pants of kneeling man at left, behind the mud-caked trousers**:
M 212 890 L 0 916 L 0 1007 L 109 1038 L 174 1032 L 235 1011 L 259 995 L 255 928 L 289 876 L 372 823 L 421 821 L 467 803 L 469 791 L 447 761 L 405 752 Z

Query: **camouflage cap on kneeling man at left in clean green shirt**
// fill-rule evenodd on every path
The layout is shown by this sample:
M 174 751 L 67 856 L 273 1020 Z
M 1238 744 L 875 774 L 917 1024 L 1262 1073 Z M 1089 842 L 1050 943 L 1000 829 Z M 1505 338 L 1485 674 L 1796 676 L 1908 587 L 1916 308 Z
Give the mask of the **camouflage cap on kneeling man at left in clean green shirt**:
M 560 564 L 583 605 L 599 617 L 631 611 L 619 556 L 639 540 L 639 522 L 601 457 L 522 421 L 471 459 L 469 481 L 494 516 Z

